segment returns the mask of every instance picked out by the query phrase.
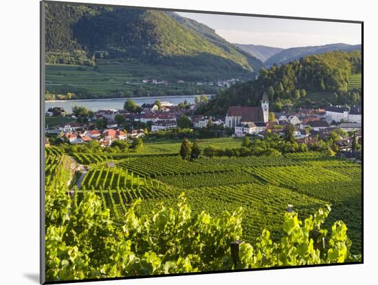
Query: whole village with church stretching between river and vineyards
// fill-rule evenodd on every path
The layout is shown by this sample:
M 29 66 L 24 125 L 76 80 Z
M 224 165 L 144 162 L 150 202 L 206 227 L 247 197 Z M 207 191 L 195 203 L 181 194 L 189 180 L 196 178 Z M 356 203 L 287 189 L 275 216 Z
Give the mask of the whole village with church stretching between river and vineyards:
M 276 133 L 280 137 L 292 126 L 293 137 L 298 144 L 313 144 L 326 139 L 331 132 L 339 134 L 335 144 L 347 158 L 353 158 L 353 136 L 362 139 L 362 112 L 360 106 L 328 106 L 325 109 L 298 109 L 297 111 L 269 112 L 267 94 L 263 94 L 260 106 L 230 106 L 225 116 L 214 117 L 196 114 L 201 100 L 174 106 L 168 101 L 142 104 L 135 111 L 125 109 L 89 112 L 78 117 L 61 107 L 52 107 L 46 116 L 70 118 L 59 126 L 49 128 L 47 135 L 57 135 L 69 144 L 85 144 L 96 140 L 102 147 L 109 147 L 116 140 L 131 141 L 148 133 L 162 133 L 179 128 L 216 128 L 219 137 L 264 137 Z M 100 124 L 99 124 L 100 123 Z M 342 135 L 344 134 L 344 135 Z M 46 139 L 46 145 L 49 141 Z

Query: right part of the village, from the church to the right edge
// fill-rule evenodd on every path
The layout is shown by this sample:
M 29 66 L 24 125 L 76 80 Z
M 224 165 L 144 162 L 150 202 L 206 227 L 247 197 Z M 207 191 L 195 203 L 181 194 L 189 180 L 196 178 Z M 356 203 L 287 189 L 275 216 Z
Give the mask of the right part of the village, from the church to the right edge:
M 300 109 L 290 113 L 275 113 L 269 122 L 269 100 L 263 94 L 260 106 L 230 106 L 225 117 L 225 126 L 234 128 L 235 137 L 245 135 L 263 136 L 266 132 L 285 135 L 286 126 L 293 126 L 293 137 L 298 143 L 309 144 L 318 138 L 328 137 L 331 131 L 340 128 L 346 132 L 356 131 L 362 135 L 362 109 L 360 106 L 329 106 L 326 109 Z M 337 141 L 340 150 L 351 151 L 352 138 Z

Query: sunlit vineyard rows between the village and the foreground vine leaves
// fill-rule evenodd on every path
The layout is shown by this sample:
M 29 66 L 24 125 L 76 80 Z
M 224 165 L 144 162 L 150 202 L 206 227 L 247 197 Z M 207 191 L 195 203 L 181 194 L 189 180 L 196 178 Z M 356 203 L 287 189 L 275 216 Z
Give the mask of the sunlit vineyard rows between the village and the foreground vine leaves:
M 240 146 L 241 140 L 220 138 L 200 142 L 201 148 L 210 144 L 235 147 Z M 89 168 L 76 191 L 76 203 L 80 203 L 83 192 L 94 191 L 115 221 L 120 221 L 135 198 L 142 199 L 137 211 L 151 216 L 158 203 L 174 206 L 179 194 L 186 192 L 194 213 L 206 211 L 218 216 L 224 210 L 232 212 L 242 206 L 243 240 L 246 241 L 253 241 L 264 228 L 278 240 L 282 234 L 282 213 L 288 204 L 304 218 L 331 203 L 332 212 L 326 225 L 330 227 L 335 220 L 344 220 L 348 236 L 353 240 L 353 253 L 360 252 L 362 170 L 359 164 L 319 152 L 185 161 L 177 155 L 179 145 L 177 141 L 146 141 L 144 150 L 137 156 L 133 153 L 69 155 Z M 68 156 L 52 151 L 49 161 L 63 157 Z M 107 161 L 113 161 L 114 165 L 109 167 Z M 51 168 L 47 174 L 54 176 Z

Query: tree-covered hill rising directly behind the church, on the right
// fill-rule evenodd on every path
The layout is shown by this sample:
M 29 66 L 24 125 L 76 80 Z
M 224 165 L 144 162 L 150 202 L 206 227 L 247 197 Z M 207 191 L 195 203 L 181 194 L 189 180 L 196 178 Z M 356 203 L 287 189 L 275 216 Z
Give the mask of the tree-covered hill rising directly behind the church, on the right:
M 329 94 L 327 102 L 333 104 L 359 104 L 360 90 L 348 84 L 353 74 L 361 73 L 361 62 L 361 52 L 329 52 L 260 69 L 256 80 L 221 91 L 199 113 L 225 115 L 228 106 L 258 106 L 264 91 L 276 110 L 306 100 L 311 92 Z

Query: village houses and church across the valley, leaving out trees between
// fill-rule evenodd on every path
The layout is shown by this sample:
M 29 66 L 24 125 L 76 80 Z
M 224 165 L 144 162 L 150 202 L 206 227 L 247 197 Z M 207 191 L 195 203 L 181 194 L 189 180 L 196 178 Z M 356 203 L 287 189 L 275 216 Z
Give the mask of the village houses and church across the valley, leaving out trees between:
M 101 146 L 110 146 L 117 139 L 133 139 L 144 135 L 143 129 L 131 130 L 125 133 L 115 121 L 117 115 L 124 116 L 126 122 L 141 122 L 151 126 L 151 132 L 177 128 L 177 121 L 187 115 L 193 128 L 206 128 L 210 125 L 224 126 L 234 130 L 234 137 L 245 135 L 263 136 L 266 132 L 277 133 L 283 136 L 286 126 L 293 126 L 293 136 L 298 143 L 309 144 L 318 138 L 327 137 L 332 130 L 340 128 L 346 132 L 362 132 L 362 110 L 360 106 L 329 106 L 326 109 L 299 109 L 298 111 L 274 113 L 274 119 L 269 118 L 269 99 L 267 93 L 263 94 L 260 106 L 230 106 L 225 117 L 208 117 L 194 115 L 195 104 L 187 108 L 174 106 L 170 102 L 156 104 L 143 104 L 142 112 L 131 113 L 126 110 L 100 110 L 94 113 L 95 119 L 106 119 L 107 125 L 103 130 L 93 130 L 93 124 L 88 122 L 63 123 L 58 128 L 63 132 L 63 139 L 71 144 L 82 144 L 96 139 Z M 60 107 L 50 108 L 46 115 L 54 115 L 65 111 Z M 74 118 L 74 117 L 73 117 Z M 340 139 L 337 144 L 341 150 L 351 149 L 351 139 Z

